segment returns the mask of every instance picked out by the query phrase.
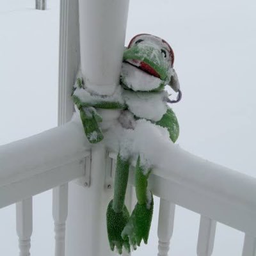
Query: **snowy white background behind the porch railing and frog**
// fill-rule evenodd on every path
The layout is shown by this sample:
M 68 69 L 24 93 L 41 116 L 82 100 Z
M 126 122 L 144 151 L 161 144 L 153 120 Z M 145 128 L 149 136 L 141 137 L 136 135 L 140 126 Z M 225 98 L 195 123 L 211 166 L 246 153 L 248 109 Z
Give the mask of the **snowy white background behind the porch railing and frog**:
M 43 12 L 34 2 L 0 2 L 1 145 L 57 124 L 60 3 Z M 126 40 L 146 32 L 172 45 L 184 94 L 173 107 L 179 145 L 254 177 L 255 13 L 254 0 L 131 0 Z M 33 202 L 31 255 L 53 255 L 51 191 Z M 196 255 L 199 218 L 177 207 L 170 255 Z M 0 252 L 18 255 L 14 205 L 1 209 L 0 227 Z M 241 255 L 242 244 L 241 232 L 218 223 L 214 256 Z M 156 253 L 157 201 L 149 245 L 134 255 Z

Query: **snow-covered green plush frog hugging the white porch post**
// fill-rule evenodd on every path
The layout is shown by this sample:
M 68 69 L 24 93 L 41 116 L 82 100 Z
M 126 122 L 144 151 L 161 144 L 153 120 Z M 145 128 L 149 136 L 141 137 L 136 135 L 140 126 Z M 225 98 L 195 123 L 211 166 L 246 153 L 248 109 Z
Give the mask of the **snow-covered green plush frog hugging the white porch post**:
M 123 109 L 135 121 L 147 120 L 152 125 L 164 127 L 174 143 L 179 136 L 179 123 L 167 103 L 179 102 L 181 92 L 177 74 L 173 69 L 173 61 L 172 48 L 166 41 L 157 36 L 140 34 L 134 36 L 124 50 L 121 86 L 118 86 L 114 95 L 111 97 L 93 95 L 86 90 L 83 79 L 77 79 L 72 97 L 80 112 L 88 140 L 97 143 L 103 139 L 98 125 L 101 117 L 96 109 L 105 108 Z M 164 90 L 166 85 L 178 93 L 177 99 L 169 99 L 168 92 Z M 133 128 L 132 125 L 127 126 L 127 124 L 123 127 Z M 140 246 L 142 239 L 147 244 L 154 203 L 152 193 L 147 188 L 152 168 L 145 167 L 141 163 L 139 154 L 134 181 L 138 202 L 131 215 L 129 214 L 124 200 L 131 159 L 122 156 L 120 152 L 116 161 L 114 196 L 107 209 L 107 229 L 111 250 L 116 247 L 121 254 L 123 247 L 128 252 L 131 247 L 135 250 Z

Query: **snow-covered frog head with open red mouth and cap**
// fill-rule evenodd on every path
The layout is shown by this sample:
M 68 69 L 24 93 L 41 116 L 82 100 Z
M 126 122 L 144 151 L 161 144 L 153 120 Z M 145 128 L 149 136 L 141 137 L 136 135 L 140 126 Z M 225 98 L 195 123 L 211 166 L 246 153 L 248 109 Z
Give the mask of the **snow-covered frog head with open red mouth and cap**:
M 179 80 L 173 68 L 172 47 L 163 39 L 140 34 L 132 38 L 124 51 L 121 82 L 125 88 L 156 92 L 170 84 L 179 92 Z

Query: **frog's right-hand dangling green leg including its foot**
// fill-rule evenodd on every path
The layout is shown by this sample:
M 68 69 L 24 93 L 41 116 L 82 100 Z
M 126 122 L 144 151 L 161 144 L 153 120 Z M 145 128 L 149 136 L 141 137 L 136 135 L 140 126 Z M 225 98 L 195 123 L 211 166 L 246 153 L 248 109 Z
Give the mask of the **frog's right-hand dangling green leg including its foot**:
M 148 241 L 154 208 L 153 195 L 147 188 L 149 174 L 150 170 L 145 173 L 143 167 L 141 167 L 139 156 L 135 168 L 135 188 L 138 203 L 135 205 L 131 217 L 122 232 L 123 239 L 128 237 L 129 243 L 134 249 L 136 249 L 137 245 L 140 246 L 142 239 L 145 244 Z

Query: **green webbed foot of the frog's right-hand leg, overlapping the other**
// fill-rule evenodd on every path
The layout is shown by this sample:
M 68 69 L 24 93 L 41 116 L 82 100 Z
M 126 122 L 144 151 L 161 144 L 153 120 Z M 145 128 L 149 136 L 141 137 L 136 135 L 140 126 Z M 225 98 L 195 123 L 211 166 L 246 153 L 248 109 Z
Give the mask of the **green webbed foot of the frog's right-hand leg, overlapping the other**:
M 148 202 L 147 204 L 137 203 L 135 205 L 131 217 L 122 232 L 122 238 L 124 240 L 129 239 L 129 243 L 134 250 L 136 250 L 137 246 L 140 246 L 142 239 L 145 244 L 148 242 L 148 234 L 154 207 L 152 193 L 151 198 L 151 202 Z

